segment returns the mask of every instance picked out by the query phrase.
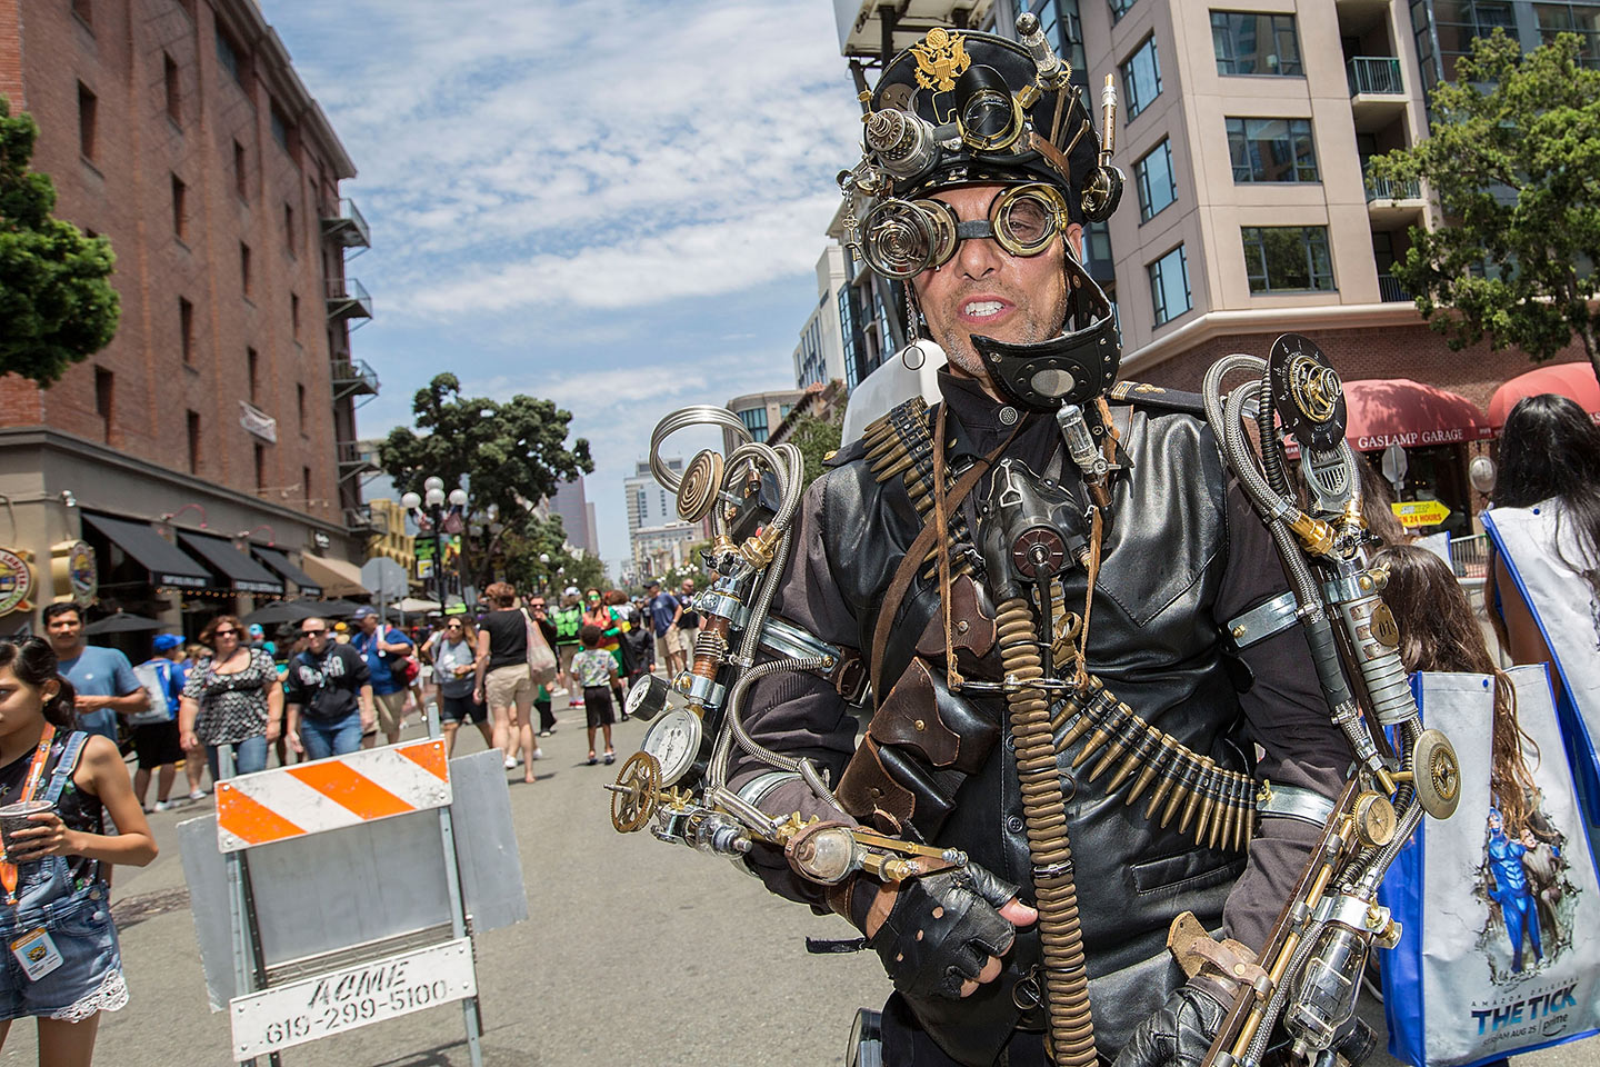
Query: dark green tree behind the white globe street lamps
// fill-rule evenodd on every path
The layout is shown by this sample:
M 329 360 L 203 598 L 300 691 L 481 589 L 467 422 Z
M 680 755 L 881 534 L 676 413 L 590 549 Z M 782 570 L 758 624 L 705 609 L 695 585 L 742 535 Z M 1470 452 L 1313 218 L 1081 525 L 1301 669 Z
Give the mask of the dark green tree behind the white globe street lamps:
M 416 392 L 411 411 L 416 427 L 427 434 L 397 426 L 378 446 L 378 466 L 400 493 L 421 494 L 430 475 L 443 478 L 446 491 L 470 485 L 470 509 L 501 523 L 496 541 L 549 544 L 550 520 L 541 520 L 533 507 L 562 482 L 595 469 L 589 442 L 578 438 L 568 446 L 571 411 L 550 400 L 522 394 L 506 402 L 466 397 L 454 374 L 438 374 Z M 560 520 L 554 522 L 560 552 Z M 491 542 L 472 560 L 480 589 L 499 549 Z M 541 550 L 547 549 L 534 549 L 533 555 Z

